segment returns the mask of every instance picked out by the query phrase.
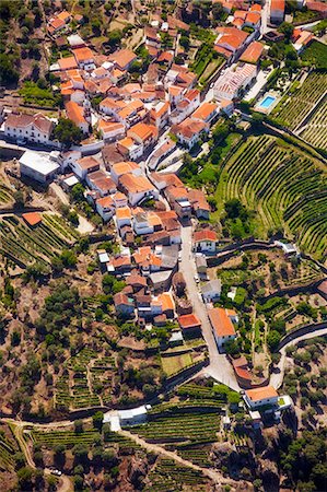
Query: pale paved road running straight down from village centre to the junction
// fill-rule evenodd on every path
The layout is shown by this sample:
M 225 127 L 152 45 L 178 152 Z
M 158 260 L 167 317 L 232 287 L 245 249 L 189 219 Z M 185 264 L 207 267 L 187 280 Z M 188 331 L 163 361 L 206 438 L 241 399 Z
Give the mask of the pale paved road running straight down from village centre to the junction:
M 194 279 L 196 274 L 195 257 L 191 253 L 191 225 L 182 229 L 182 261 L 179 270 L 184 274 L 189 300 L 194 306 L 194 312 L 201 320 L 202 333 L 209 350 L 210 364 L 201 372 L 209 374 L 215 380 L 230 386 L 232 389 L 240 391 L 234 371 L 226 355 L 219 353 L 217 343 L 211 330 L 211 325 L 207 315 L 207 308 L 200 295 L 199 289 Z

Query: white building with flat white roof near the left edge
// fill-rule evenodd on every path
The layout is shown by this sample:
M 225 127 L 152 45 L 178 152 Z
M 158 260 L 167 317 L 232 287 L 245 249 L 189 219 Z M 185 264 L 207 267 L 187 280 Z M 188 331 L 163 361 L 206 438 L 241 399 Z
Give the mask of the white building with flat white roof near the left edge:
M 21 175 L 46 184 L 51 181 L 60 171 L 59 164 L 51 161 L 47 155 L 38 152 L 26 151 L 20 157 Z

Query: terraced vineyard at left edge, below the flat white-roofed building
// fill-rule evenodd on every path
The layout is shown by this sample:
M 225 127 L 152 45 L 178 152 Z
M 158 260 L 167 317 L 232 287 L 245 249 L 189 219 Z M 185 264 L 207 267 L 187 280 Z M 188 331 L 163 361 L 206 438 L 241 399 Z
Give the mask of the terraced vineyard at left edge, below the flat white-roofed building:
M 0 254 L 24 267 L 35 261 L 47 265 L 70 247 L 79 233 L 59 215 L 44 214 L 43 222 L 30 229 L 14 215 L 0 221 Z

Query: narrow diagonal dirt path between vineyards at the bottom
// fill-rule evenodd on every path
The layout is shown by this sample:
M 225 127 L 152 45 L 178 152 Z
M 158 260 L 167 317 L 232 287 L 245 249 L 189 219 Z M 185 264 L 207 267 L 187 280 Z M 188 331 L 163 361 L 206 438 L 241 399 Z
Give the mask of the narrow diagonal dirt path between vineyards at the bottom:
M 222 484 L 222 483 L 231 484 L 231 479 L 225 479 L 219 471 L 198 467 L 197 465 L 192 464 L 191 461 L 188 461 L 187 459 L 182 458 L 179 455 L 177 455 L 177 453 L 170 452 L 170 450 L 165 449 L 164 447 L 159 446 L 157 444 L 148 443 L 147 441 L 142 440 L 141 437 L 139 437 L 136 434 L 132 434 L 129 431 L 119 431 L 118 434 L 121 434 L 125 437 L 132 440 L 135 443 L 139 444 L 140 446 L 144 447 L 145 449 L 149 449 L 150 452 L 153 452 L 157 455 L 164 455 L 167 458 L 174 459 L 175 461 L 179 462 L 180 465 L 184 465 L 185 467 L 192 468 L 194 470 L 200 471 L 201 473 L 203 473 L 206 477 L 210 478 L 218 484 Z

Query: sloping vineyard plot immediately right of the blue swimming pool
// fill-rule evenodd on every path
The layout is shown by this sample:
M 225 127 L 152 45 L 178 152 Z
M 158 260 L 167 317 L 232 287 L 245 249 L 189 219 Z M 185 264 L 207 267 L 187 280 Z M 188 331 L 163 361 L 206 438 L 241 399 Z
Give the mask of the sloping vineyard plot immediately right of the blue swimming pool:
M 293 94 L 287 94 L 271 115 L 294 130 L 327 91 L 327 73 L 312 72 Z

